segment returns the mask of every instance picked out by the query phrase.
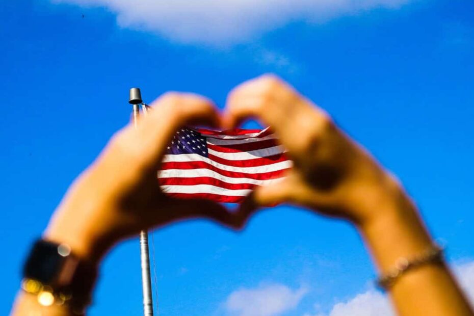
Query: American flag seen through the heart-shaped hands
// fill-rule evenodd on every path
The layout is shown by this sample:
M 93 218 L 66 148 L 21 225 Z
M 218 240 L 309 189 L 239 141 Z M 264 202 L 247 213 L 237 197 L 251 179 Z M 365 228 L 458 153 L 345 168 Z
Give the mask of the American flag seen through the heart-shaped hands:
M 255 186 L 278 181 L 291 167 L 269 128 L 187 127 L 168 145 L 158 178 L 162 190 L 173 197 L 240 203 Z

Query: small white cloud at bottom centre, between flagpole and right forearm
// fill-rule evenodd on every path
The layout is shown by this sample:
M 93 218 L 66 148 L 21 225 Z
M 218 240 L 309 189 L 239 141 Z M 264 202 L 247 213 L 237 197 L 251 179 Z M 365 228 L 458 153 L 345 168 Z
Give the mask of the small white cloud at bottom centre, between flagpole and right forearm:
M 242 288 L 229 295 L 224 308 L 230 315 L 274 316 L 298 306 L 307 292 L 306 287 L 291 289 L 282 284 Z

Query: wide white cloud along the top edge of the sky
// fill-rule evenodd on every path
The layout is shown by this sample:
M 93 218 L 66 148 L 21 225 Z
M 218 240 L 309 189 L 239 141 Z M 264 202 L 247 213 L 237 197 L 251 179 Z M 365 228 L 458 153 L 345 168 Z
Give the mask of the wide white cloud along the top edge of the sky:
M 104 7 L 121 27 L 152 31 L 183 43 L 242 43 L 282 25 L 319 23 L 377 7 L 398 8 L 410 0 L 50 0 Z

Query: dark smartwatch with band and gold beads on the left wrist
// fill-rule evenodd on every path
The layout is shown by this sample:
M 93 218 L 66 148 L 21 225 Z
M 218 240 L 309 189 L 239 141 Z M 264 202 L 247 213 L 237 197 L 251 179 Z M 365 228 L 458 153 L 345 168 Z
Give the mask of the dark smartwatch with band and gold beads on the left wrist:
M 68 245 L 40 239 L 25 261 L 21 287 L 43 306 L 67 304 L 81 315 L 92 301 L 96 278 L 96 265 L 75 256 Z

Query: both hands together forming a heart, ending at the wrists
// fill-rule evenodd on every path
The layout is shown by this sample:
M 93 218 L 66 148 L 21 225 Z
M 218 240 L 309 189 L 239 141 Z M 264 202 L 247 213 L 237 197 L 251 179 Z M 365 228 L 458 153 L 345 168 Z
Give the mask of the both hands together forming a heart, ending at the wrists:
M 381 204 L 400 194 L 398 182 L 343 133 L 323 110 L 273 75 L 234 88 L 219 114 L 212 101 L 170 92 L 153 111 L 110 140 L 97 160 L 76 179 L 52 218 L 45 237 L 98 259 L 115 242 L 141 229 L 189 218 L 208 218 L 241 228 L 260 207 L 292 203 L 365 225 Z M 200 199 L 174 199 L 156 172 L 176 129 L 204 124 L 232 128 L 248 118 L 272 126 L 294 167 L 273 186 L 258 187 L 231 213 Z

